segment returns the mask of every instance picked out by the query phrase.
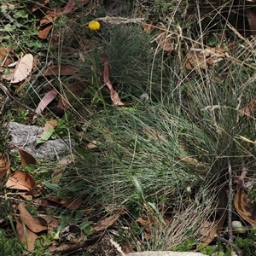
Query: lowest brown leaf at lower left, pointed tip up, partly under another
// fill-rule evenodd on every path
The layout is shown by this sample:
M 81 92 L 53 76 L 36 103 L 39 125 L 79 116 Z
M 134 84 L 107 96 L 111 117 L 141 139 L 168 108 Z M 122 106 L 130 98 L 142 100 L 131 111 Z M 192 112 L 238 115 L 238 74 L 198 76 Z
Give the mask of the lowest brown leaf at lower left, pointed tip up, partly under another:
M 38 236 L 33 233 L 31 230 L 26 228 L 26 225 L 23 225 L 20 221 L 20 218 L 15 217 L 16 221 L 16 232 L 20 242 L 26 247 L 28 251 L 34 249 L 35 241 Z

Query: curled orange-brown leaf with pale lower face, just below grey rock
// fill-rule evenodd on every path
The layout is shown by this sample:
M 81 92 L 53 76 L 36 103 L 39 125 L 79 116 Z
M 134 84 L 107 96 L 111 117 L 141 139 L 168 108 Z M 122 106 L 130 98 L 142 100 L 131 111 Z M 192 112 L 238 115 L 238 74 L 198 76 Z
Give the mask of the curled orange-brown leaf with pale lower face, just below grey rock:
M 16 171 L 10 177 L 5 187 L 7 189 L 19 189 L 28 191 L 32 194 L 36 189 L 37 183 L 28 172 Z

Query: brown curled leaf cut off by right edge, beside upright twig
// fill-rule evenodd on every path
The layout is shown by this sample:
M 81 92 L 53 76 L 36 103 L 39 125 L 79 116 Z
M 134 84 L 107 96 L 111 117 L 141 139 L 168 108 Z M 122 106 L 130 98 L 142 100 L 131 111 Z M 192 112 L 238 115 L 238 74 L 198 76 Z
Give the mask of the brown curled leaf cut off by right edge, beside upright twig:
M 238 189 L 234 199 L 236 212 L 246 220 L 249 224 L 256 227 L 256 216 L 253 216 L 254 205 L 248 199 L 246 192 L 243 189 Z

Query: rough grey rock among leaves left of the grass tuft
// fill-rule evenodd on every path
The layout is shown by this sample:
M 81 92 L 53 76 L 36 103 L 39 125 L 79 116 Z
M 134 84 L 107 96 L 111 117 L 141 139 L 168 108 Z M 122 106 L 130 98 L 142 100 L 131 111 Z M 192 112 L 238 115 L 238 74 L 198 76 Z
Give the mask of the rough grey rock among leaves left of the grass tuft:
M 10 143 L 25 149 L 38 160 L 62 158 L 69 154 L 70 149 L 76 144 L 66 139 L 55 139 L 37 145 L 38 135 L 43 132 L 43 129 L 37 125 L 21 125 L 16 122 L 9 122 L 7 130 L 11 139 Z M 10 153 L 14 153 L 15 150 L 15 148 L 12 149 Z

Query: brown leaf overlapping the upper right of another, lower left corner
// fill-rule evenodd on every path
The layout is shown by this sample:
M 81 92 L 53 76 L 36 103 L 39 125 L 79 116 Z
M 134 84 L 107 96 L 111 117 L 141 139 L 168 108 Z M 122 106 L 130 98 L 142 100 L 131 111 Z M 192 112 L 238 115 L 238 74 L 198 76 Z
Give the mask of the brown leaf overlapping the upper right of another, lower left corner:
M 18 206 L 18 209 L 20 211 L 19 217 L 23 221 L 24 224 L 26 224 L 26 227 L 28 227 L 32 232 L 39 233 L 41 231 L 47 230 L 47 222 L 40 218 L 33 218 L 29 212 L 26 211 L 26 208 L 20 203 Z

